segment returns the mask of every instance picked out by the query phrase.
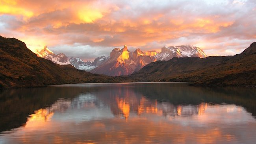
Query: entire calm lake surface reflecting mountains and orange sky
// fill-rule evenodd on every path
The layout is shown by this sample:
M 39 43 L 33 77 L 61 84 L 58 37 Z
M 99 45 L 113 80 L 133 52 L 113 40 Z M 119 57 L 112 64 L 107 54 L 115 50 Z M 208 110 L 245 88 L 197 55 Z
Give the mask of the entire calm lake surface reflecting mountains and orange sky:
M 256 89 L 186 83 L 0 91 L 0 144 L 256 142 Z

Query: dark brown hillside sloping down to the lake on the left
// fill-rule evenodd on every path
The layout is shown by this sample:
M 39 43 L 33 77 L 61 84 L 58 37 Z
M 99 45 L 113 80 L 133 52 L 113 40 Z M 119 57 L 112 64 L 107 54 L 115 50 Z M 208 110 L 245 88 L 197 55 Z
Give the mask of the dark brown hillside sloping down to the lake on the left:
M 0 36 L 0 61 L 0 89 L 121 81 L 120 78 L 91 74 L 71 65 L 58 65 L 37 57 L 24 42 L 15 38 Z

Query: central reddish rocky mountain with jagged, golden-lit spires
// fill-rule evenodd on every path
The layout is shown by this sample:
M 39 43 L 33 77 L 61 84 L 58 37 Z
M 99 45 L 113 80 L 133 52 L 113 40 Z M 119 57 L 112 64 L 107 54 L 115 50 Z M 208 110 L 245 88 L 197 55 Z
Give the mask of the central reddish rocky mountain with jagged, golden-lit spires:
M 122 49 L 114 48 L 110 52 L 108 61 L 90 72 L 108 76 L 128 75 L 154 61 L 156 61 L 154 57 L 146 55 L 146 53 L 142 52 L 139 48 L 134 52 L 130 52 L 127 46 L 124 45 Z

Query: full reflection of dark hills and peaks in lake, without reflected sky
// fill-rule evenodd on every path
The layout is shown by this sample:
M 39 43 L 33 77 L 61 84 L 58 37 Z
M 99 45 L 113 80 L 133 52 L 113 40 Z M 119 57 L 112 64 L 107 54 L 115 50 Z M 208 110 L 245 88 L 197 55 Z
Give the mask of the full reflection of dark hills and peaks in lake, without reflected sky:
M 21 126 L 34 111 L 45 120 L 51 113 L 97 107 L 99 111 L 108 107 L 106 111 L 128 121 L 133 116 L 147 114 L 164 117 L 202 115 L 211 106 L 208 103 L 235 103 L 256 115 L 255 93 L 255 89 L 250 88 L 200 88 L 181 83 L 84 84 L 4 90 L 0 91 L 0 131 Z M 88 113 L 92 114 L 90 119 L 96 114 L 95 111 Z

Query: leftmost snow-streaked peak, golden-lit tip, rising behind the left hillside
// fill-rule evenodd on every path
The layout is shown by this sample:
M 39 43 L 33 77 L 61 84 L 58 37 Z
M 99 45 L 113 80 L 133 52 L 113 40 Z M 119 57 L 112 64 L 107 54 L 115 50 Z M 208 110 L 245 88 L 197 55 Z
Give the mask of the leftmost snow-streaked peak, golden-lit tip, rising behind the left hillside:
M 54 54 L 51 50 L 47 48 L 47 46 L 45 46 L 45 48 L 43 48 L 42 50 L 36 50 L 35 54 L 38 57 L 49 59 L 59 65 L 70 65 L 69 58 L 65 54 Z

